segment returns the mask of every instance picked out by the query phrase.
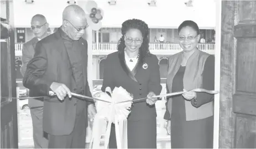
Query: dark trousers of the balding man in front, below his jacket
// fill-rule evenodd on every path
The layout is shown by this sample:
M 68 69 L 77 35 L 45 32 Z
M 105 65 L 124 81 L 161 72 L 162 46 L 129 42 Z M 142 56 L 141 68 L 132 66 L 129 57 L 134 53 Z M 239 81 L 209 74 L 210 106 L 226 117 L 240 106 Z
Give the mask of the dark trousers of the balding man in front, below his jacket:
M 77 109 L 74 130 L 70 135 L 49 135 L 48 148 L 85 148 L 85 103 L 83 100 L 77 100 L 76 106 Z

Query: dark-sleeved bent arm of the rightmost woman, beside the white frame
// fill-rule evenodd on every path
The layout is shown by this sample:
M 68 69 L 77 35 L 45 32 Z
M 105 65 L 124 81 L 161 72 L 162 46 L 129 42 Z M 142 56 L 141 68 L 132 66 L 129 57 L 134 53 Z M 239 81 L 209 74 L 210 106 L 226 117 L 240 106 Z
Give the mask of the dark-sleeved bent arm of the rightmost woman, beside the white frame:
M 202 74 L 202 88 L 209 91 L 215 89 L 215 57 L 210 55 L 207 57 L 205 66 Z M 196 102 L 194 99 L 191 100 L 191 104 L 198 108 L 203 104 L 209 103 L 214 99 L 214 94 L 208 94 L 205 92 L 196 93 Z

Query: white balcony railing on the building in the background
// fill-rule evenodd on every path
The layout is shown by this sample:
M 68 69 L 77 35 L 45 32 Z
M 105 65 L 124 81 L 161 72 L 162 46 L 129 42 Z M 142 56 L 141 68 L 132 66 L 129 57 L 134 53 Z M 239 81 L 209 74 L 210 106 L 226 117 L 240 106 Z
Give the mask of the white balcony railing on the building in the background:
M 22 44 L 15 44 L 15 55 L 22 56 Z M 206 43 L 198 44 L 198 49 L 207 52 L 208 54 L 215 54 L 215 44 Z M 149 50 L 155 55 L 173 55 L 182 51 L 177 43 L 150 43 Z M 117 43 L 96 43 L 92 44 L 93 55 L 108 55 L 117 51 Z

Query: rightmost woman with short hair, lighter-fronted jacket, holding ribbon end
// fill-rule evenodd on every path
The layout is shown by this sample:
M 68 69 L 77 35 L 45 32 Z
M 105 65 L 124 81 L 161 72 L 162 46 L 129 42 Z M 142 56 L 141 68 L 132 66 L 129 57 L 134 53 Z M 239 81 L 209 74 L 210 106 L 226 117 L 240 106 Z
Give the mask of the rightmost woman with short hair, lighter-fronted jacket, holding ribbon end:
M 178 34 L 183 51 L 169 58 L 166 90 L 185 92 L 169 98 L 166 104 L 171 148 L 212 148 L 214 95 L 189 90 L 214 90 L 215 57 L 197 49 L 200 31 L 195 22 L 181 23 Z

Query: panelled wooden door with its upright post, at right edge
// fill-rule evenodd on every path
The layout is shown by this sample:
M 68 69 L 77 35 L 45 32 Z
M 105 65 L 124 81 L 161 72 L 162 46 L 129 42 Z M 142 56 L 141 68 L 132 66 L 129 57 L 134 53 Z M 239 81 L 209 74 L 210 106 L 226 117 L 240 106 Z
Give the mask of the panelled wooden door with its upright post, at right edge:
M 222 1 L 220 148 L 256 148 L 256 1 Z

